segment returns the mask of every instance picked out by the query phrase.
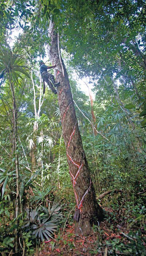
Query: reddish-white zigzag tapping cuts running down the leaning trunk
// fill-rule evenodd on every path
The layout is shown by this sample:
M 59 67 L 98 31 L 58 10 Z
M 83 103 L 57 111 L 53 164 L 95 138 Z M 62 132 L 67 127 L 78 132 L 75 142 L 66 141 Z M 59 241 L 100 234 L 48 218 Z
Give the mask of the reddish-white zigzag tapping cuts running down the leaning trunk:
M 59 92 L 59 99 L 60 99 L 60 95 L 61 95 L 62 90 L 63 90 L 63 89 L 61 89 L 60 92 Z M 63 114 L 63 117 L 62 117 L 62 120 L 64 119 L 65 114 L 66 114 L 66 112 L 67 112 L 67 110 L 69 109 L 69 106 L 70 106 L 71 104 L 72 104 L 72 102 L 70 102 L 69 105 L 66 107 L 66 110 L 65 110 L 65 112 L 64 112 L 64 114 Z M 62 120 L 61 120 L 61 122 L 62 122 Z M 83 162 L 83 160 L 84 160 L 84 156 L 83 156 L 83 158 L 82 158 L 81 165 L 78 165 L 78 164 L 76 164 L 76 162 L 73 161 L 72 157 L 71 157 L 71 156 L 69 155 L 69 153 L 68 153 L 68 148 L 69 148 L 69 145 L 70 145 L 70 141 L 72 140 L 72 137 L 73 137 L 73 135 L 75 134 L 75 131 L 76 131 L 76 124 L 77 124 L 77 120 L 76 120 L 76 123 L 75 123 L 75 125 L 74 125 L 73 132 L 72 132 L 72 134 L 70 135 L 70 139 L 69 139 L 69 141 L 68 141 L 68 146 L 67 146 L 66 154 L 67 154 L 67 156 L 69 157 L 69 160 L 70 160 L 74 165 L 76 165 L 76 166 L 78 167 L 78 171 L 77 171 L 77 173 L 76 173 L 75 176 L 73 176 L 73 174 L 72 174 L 72 172 L 71 172 L 70 170 L 69 170 L 69 173 L 70 173 L 70 175 L 71 175 L 72 178 L 73 178 L 73 190 L 74 190 L 74 195 L 75 195 L 75 197 L 76 197 L 77 207 L 78 207 L 78 209 L 80 209 L 80 212 L 81 212 L 82 202 L 83 202 L 83 200 L 84 200 L 85 195 L 88 193 L 89 189 L 91 188 L 92 182 L 91 182 L 91 179 L 90 179 L 89 187 L 88 187 L 88 189 L 85 191 L 85 193 L 82 195 L 82 198 L 81 198 L 80 203 L 78 203 L 78 195 L 77 195 L 76 190 L 75 190 L 75 185 L 76 185 L 76 179 L 77 179 L 77 177 L 78 177 L 78 175 L 79 175 L 79 172 L 80 172 L 81 168 L 83 167 L 83 163 L 82 163 L 82 162 Z

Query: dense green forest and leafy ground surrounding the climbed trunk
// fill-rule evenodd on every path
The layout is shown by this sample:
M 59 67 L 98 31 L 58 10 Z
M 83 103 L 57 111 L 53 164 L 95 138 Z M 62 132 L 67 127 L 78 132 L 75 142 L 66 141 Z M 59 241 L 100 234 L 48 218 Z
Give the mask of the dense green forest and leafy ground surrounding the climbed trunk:
M 43 95 L 39 73 L 41 59 L 53 65 L 50 19 L 105 211 L 89 237 L 73 234 L 76 201 L 58 98 L 47 85 Z M 0 1 L 2 256 L 146 255 L 145 26 L 142 0 Z

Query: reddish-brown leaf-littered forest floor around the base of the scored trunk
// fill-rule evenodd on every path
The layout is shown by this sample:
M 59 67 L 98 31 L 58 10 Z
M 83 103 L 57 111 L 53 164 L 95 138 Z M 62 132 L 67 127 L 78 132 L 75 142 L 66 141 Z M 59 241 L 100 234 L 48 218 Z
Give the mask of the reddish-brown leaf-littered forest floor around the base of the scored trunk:
M 112 208 L 104 207 L 107 219 L 94 226 L 87 237 L 74 235 L 74 224 L 66 224 L 64 232 L 55 234 L 54 239 L 42 245 L 39 256 L 108 256 L 108 255 L 146 255 L 146 233 L 138 219 L 129 224 L 126 209 L 113 213 Z M 116 218 L 115 218 L 116 216 Z M 123 221 L 125 219 L 125 221 Z M 144 220 L 143 220 L 144 221 Z M 144 225 L 145 226 L 145 225 Z M 136 229 L 135 229 L 136 227 Z

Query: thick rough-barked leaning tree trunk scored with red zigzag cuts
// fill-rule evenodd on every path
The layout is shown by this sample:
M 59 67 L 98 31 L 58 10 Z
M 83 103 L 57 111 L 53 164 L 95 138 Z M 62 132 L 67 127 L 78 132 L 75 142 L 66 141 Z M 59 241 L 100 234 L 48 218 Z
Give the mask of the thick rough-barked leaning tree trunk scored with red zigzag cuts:
M 103 211 L 98 205 L 95 190 L 91 181 L 88 163 L 82 147 L 82 140 L 70 90 L 69 78 L 64 62 L 59 60 L 57 33 L 50 22 L 48 55 L 55 68 L 55 79 L 60 82 L 57 88 L 58 103 L 61 113 L 62 131 L 66 146 L 70 178 L 73 184 L 74 195 L 79 209 L 79 222 L 76 223 L 75 233 L 86 235 L 91 232 L 92 224 L 103 219 Z M 62 66 L 64 72 L 62 72 Z M 64 75 L 63 75 L 64 74 Z M 78 212 L 78 210 L 77 210 Z M 77 215 L 77 214 L 76 214 Z

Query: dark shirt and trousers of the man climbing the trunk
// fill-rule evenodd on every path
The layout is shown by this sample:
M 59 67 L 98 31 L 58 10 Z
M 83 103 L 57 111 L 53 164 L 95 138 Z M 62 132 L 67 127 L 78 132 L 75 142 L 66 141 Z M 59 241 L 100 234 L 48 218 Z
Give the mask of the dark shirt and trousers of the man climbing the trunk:
M 42 67 L 42 69 L 41 69 L 41 67 Z M 46 65 L 41 65 L 41 67 L 40 67 L 40 73 L 41 73 L 43 81 L 45 81 L 49 85 L 50 89 L 54 92 L 54 94 L 57 94 L 57 91 L 53 87 L 53 85 L 55 84 L 54 76 L 52 74 L 50 74 L 49 72 L 47 72 Z M 44 69 L 46 69 L 46 70 L 44 70 Z M 43 94 L 44 93 L 45 93 L 45 90 L 43 90 Z

